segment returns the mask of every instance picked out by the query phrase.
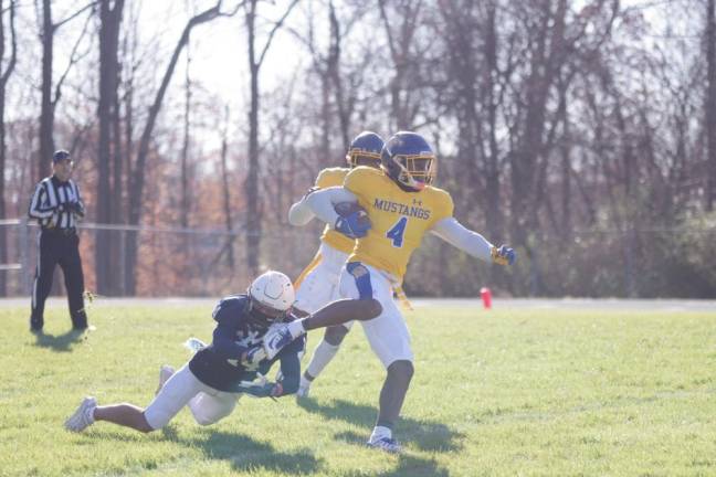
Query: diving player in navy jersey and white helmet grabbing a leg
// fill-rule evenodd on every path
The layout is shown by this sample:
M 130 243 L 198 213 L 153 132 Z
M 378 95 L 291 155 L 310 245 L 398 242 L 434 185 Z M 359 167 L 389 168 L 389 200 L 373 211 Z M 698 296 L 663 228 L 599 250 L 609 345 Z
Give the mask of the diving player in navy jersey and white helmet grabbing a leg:
M 65 422 L 69 431 L 81 432 L 96 421 L 107 421 L 140 432 L 164 427 L 187 405 L 201 425 L 213 424 L 231 414 L 242 393 L 256 398 L 293 394 L 301 379 L 299 353 L 309 329 L 339 325 L 351 319 L 371 319 L 380 315 L 377 300 L 338 300 L 301 320 L 292 315 L 295 300 L 293 284 L 280 272 L 266 272 L 254 279 L 248 294 L 222 299 L 213 311 L 217 327 L 211 344 L 173 371 L 162 367 L 154 401 L 141 409 L 133 404 L 97 405 L 87 396 Z M 298 339 L 283 332 L 272 335 L 272 325 L 292 322 Z M 284 326 L 274 327 L 283 331 Z M 294 332 L 296 335 L 296 332 Z M 259 373 L 281 364 L 278 382 L 252 383 Z

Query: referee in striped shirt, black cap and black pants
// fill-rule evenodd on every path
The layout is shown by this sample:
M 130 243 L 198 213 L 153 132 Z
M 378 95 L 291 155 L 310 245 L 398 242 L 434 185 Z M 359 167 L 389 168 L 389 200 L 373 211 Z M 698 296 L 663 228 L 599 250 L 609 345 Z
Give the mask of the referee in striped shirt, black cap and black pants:
M 52 155 L 53 174 L 35 187 L 28 215 L 40 224 L 38 233 L 38 269 L 32 286 L 30 330 L 42 332 L 44 303 L 52 288 L 52 274 L 60 265 L 65 277 L 70 317 L 75 330 L 87 328 L 84 310 L 84 276 L 80 259 L 80 237 L 75 222 L 83 218 L 85 208 L 77 184 L 70 179 L 73 162 L 70 152 L 57 150 Z

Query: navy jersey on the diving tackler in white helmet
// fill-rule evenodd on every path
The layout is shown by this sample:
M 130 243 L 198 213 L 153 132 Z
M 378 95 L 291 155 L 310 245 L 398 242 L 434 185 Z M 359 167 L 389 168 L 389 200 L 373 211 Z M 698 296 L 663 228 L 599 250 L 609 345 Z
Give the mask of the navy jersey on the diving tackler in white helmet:
M 263 315 L 251 309 L 250 303 L 246 295 L 230 296 L 219 301 L 213 310 L 217 328 L 211 344 L 193 356 L 189 369 L 202 383 L 219 391 L 232 392 L 241 381 L 253 381 L 256 372 L 266 374 L 280 361 L 284 394 L 291 394 L 297 390 L 301 379 L 299 357 L 305 347 L 305 336 L 282 349 L 272 360 L 244 367 L 241 356 L 261 344 L 271 325 Z

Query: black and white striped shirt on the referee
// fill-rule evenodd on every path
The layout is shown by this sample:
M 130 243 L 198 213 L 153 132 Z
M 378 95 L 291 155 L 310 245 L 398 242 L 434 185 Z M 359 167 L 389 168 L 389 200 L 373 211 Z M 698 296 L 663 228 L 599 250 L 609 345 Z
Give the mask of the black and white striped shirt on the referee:
M 76 209 L 71 204 L 78 204 Z M 73 210 L 75 209 L 75 210 Z M 38 183 L 28 215 L 38 219 L 43 229 L 73 229 L 77 218 L 85 214 L 77 184 L 72 180 L 60 182 L 55 176 Z

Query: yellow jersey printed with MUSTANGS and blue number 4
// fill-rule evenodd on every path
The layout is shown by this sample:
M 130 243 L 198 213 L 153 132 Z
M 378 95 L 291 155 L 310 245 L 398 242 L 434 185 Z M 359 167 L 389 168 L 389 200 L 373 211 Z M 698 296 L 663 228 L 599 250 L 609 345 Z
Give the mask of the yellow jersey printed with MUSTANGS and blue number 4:
M 371 227 L 356 243 L 349 262 L 364 262 L 402 280 L 413 251 L 435 222 L 453 215 L 450 194 L 432 186 L 406 192 L 380 169 L 352 169 L 344 187 L 358 197 Z

